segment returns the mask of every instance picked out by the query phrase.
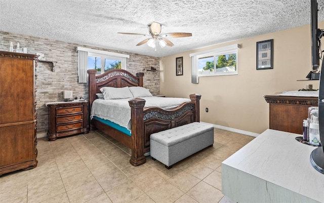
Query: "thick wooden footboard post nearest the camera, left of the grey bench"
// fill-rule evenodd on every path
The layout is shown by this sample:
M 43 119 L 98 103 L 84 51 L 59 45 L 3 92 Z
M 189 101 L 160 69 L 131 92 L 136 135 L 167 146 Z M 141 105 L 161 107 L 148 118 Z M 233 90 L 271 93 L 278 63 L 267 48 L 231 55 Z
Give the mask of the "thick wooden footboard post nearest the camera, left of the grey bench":
M 144 115 L 145 100 L 133 98 L 128 101 L 131 106 L 132 156 L 131 165 L 137 167 L 146 162 L 144 156 Z

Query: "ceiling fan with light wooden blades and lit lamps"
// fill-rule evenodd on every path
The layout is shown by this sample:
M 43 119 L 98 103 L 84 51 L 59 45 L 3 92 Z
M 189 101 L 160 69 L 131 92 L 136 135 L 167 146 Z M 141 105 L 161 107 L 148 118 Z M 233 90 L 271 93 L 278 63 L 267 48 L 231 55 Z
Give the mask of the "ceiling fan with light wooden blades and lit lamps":
M 186 36 L 192 36 L 191 33 L 187 32 L 171 32 L 171 33 L 161 33 L 163 24 L 152 22 L 147 24 L 148 32 L 149 34 L 139 34 L 139 33 L 129 33 L 129 32 L 117 32 L 119 34 L 133 34 L 133 35 L 143 35 L 143 36 L 149 36 L 149 38 L 144 39 L 142 42 L 138 43 L 136 46 L 143 45 L 147 43 L 149 47 L 155 48 L 157 43 L 160 45 L 161 48 L 164 48 L 166 45 L 169 47 L 174 46 L 174 44 L 167 38 L 167 36 L 170 37 L 186 37 Z

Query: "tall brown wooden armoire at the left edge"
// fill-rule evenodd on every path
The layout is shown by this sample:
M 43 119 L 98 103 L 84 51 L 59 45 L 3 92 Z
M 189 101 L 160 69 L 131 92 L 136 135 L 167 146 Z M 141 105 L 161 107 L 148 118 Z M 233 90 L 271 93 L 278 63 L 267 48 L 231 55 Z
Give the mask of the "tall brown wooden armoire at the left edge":
M 37 166 L 37 55 L 0 51 L 0 176 Z

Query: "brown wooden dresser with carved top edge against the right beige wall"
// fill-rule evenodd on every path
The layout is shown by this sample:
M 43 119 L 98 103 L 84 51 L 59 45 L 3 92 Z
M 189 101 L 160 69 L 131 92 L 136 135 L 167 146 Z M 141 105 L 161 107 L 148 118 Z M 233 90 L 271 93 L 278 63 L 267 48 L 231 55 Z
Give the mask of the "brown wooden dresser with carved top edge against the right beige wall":
M 264 98 L 269 103 L 269 128 L 300 135 L 308 107 L 318 106 L 318 97 L 265 95 Z

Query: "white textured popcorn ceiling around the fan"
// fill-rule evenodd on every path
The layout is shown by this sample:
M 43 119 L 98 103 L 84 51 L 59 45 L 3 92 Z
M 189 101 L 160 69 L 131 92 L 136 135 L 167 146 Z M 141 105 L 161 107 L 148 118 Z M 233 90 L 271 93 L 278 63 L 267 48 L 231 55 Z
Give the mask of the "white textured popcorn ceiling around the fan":
M 318 21 L 324 20 L 318 0 Z M 146 25 L 165 24 L 174 47 L 136 46 Z M 0 0 L 0 31 L 163 57 L 229 40 L 310 24 L 310 0 Z M 323 29 L 319 27 L 320 29 Z M 309 37 L 309 36 L 305 36 Z

